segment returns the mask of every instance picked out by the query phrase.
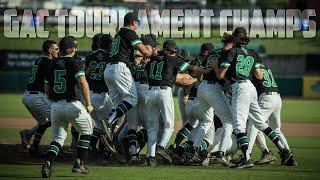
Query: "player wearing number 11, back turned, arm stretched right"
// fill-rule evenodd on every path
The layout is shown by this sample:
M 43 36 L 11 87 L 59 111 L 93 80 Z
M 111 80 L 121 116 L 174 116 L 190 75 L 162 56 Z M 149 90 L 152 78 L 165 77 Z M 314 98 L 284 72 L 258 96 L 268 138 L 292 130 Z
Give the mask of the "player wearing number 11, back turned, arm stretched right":
M 159 130 L 159 117 L 164 121 L 164 133 L 158 145 L 157 154 L 170 161 L 170 156 L 165 152 L 165 147 L 173 132 L 174 108 L 171 87 L 175 83 L 176 75 L 187 69 L 203 73 L 203 70 L 192 66 L 176 57 L 177 45 L 173 40 L 163 43 L 163 51 L 152 58 L 146 65 L 149 81 L 149 92 L 146 106 L 148 119 L 146 122 L 148 132 L 147 165 L 156 166 L 155 153 L 157 135 Z

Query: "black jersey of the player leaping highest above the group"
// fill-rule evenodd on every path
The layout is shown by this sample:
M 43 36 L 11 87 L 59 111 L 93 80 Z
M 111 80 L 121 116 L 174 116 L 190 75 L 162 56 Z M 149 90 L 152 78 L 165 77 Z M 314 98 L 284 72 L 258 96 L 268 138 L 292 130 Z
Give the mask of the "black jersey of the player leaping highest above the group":
M 135 31 L 121 28 L 112 43 L 110 52 L 111 62 L 123 62 L 128 67 L 131 67 L 134 61 L 135 46 L 141 43 L 142 41 Z

